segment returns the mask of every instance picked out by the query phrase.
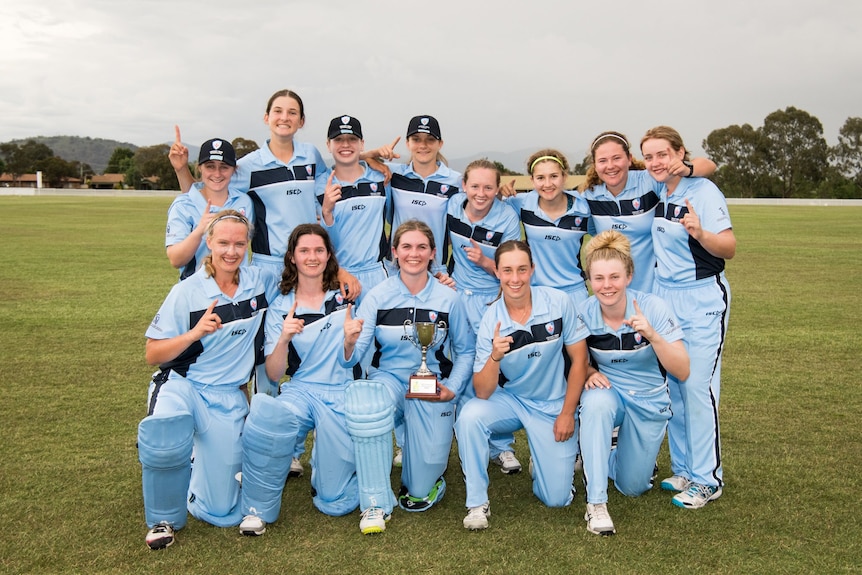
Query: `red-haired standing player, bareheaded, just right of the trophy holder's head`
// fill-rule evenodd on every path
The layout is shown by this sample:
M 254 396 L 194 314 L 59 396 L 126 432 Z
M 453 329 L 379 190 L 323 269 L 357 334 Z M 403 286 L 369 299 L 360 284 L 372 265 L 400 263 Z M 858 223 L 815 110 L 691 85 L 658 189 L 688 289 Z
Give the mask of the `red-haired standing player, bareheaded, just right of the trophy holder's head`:
M 450 273 L 474 333 L 500 290 L 494 263 L 497 246 L 521 237 L 518 214 L 497 200 L 499 188 L 500 172 L 494 163 L 475 160 L 464 170 L 464 191 L 449 200 Z M 459 406 L 474 396 L 473 386 L 468 385 Z M 512 449 L 514 441 L 511 434 L 495 435 L 491 440 L 491 461 L 506 474 L 521 471 Z

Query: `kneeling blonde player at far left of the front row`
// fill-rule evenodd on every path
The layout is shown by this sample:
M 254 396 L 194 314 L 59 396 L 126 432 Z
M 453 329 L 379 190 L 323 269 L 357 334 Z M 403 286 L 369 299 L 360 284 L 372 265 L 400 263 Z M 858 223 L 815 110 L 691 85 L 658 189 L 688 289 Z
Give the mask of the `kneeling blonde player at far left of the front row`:
M 147 363 L 159 365 L 138 426 L 151 549 L 173 543 L 187 508 L 219 527 L 242 519 L 235 479 L 248 413 L 242 386 L 254 367 L 263 312 L 278 291 L 265 270 L 240 267 L 250 237 L 245 216 L 219 212 L 204 266 L 171 289 L 147 329 Z

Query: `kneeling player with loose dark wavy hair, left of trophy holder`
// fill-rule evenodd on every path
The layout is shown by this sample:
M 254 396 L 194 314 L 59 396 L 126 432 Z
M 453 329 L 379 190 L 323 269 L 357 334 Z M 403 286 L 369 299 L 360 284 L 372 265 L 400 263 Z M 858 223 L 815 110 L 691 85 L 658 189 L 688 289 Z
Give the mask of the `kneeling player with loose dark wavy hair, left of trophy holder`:
M 345 515 L 359 504 L 353 442 L 344 417 L 344 391 L 355 374 L 335 356 L 343 347 L 348 300 L 338 289 L 332 243 L 317 224 L 290 235 L 281 294 L 266 316 L 266 369 L 290 382 L 271 398 L 256 394 L 243 432 L 244 535 L 262 535 L 278 518 L 297 437 L 314 429 L 311 487 L 314 506 Z

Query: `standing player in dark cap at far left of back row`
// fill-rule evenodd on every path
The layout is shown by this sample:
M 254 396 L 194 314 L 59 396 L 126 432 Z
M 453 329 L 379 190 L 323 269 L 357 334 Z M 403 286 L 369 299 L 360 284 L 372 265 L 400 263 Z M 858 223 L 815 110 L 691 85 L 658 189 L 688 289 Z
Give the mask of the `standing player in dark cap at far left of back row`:
M 236 152 L 227 140 L 204 142 L 198 169 L 201 182 L 192 184 L 187 194 L 174 198 L 168 208 L 165 248 L 171 265 L 180 270 L 180 280 L 195 273 L 209 253 L 206 230 L 216 212 L 233 209 L 254 219 L 248 196 L 228 186 L 236 171 Z

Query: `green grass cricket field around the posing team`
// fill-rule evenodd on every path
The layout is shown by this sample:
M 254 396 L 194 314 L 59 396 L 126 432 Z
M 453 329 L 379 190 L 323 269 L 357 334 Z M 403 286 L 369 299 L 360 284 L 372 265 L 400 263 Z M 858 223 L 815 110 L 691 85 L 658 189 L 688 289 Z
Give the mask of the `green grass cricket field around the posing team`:
M 135 450 L 152 369 L 144 331 L 176 272 L 169 198 L 0 198 L 0 572 L 853 573 L 862 571 L 862 208 L 731 206 L 739 242 L 722 385 L 724 496 L 699 511 L 610 490 L 618 534 L 492 470 L 493 516 L 467 532 L 449 491 L 363 537 L 290 480 L 261 538 L 194 519 L 151 552 Z M 517 445 L 526 462 L 526 441 Z M 666 450 L 660 475 L 669 470 Z M 397 479 L 393 477 L 397 484 Z

